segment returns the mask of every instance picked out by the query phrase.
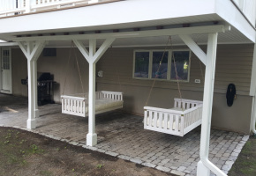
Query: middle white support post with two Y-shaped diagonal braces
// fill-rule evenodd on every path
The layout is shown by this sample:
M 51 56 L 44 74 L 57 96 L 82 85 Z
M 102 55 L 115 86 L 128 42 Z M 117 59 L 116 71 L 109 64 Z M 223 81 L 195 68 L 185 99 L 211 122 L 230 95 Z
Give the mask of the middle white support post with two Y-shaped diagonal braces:
M 89 63 L 89 95 L 88 95 L 88 134 L 87 145 L 94 146 L 97 144 L 97 134 L 95 133 L 95 77 L 96 77 L 96 62 L 100 60 L 109 46 L 115 39 L 106 39 L 102 46 L 96 51 L 96 40 L 89 40 L 89 51 L 83 45 L 81 40 L 73 40 L 79 51 L 84 55 Z

